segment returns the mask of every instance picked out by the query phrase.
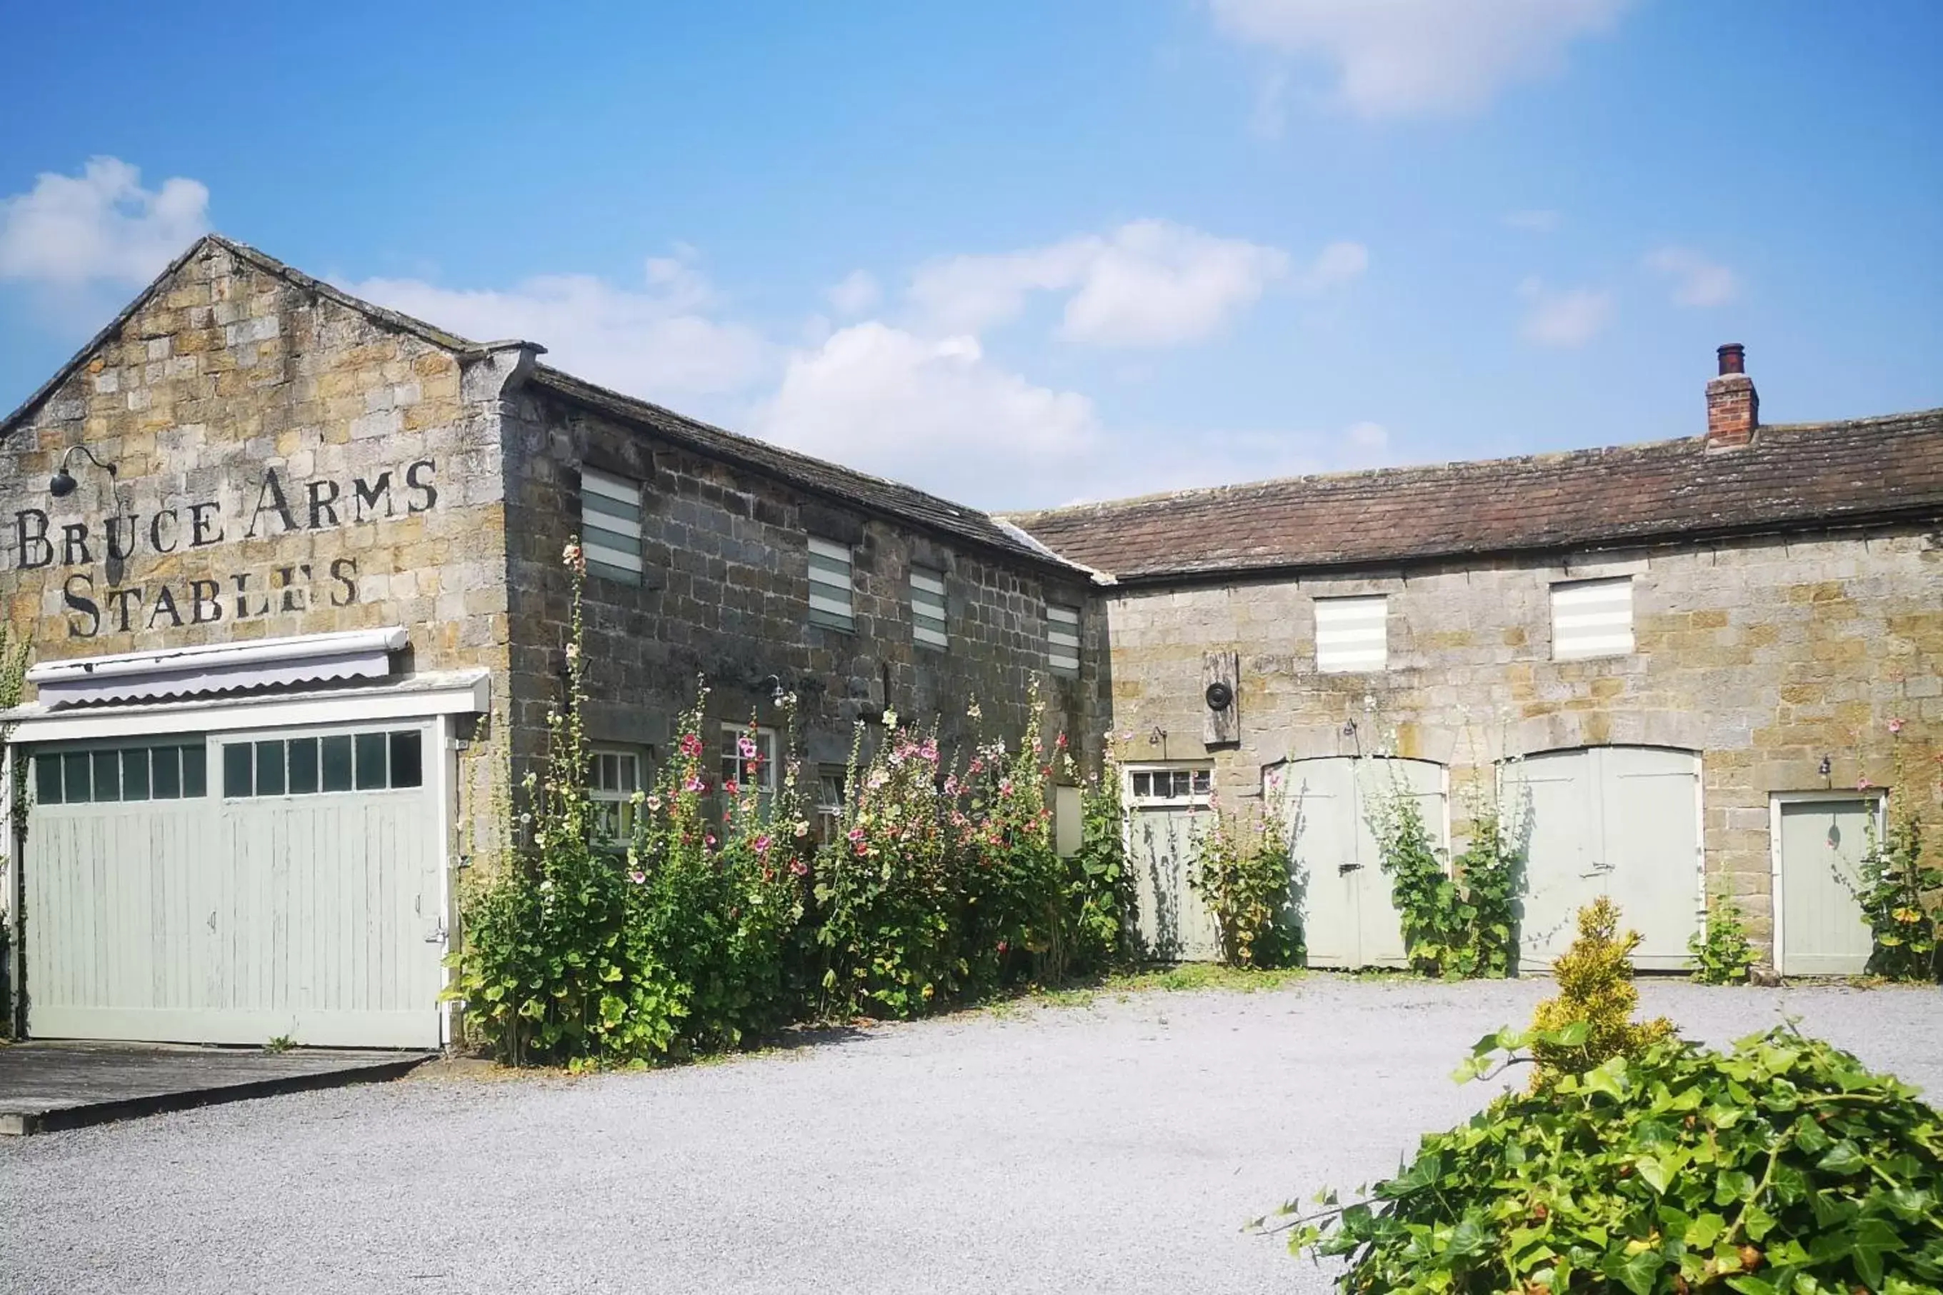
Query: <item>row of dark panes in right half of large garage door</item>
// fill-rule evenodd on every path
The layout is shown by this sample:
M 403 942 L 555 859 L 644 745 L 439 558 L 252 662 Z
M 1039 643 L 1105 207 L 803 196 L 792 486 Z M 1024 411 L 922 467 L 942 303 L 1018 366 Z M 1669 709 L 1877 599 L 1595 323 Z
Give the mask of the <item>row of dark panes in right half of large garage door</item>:
M 183 794 L 202 796 L 202 747 L 183 747 L 181 755 Z M 155 769 L 159 800 L 161 765 Z M 231 798 L 408 790 L 424 782 L 424 736 L 416 728 L 223 744 L 223 796 Z

